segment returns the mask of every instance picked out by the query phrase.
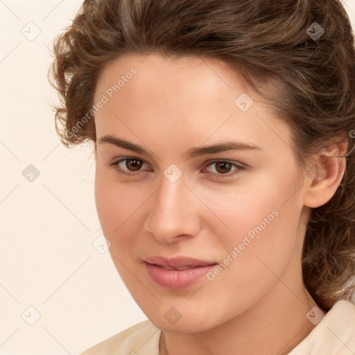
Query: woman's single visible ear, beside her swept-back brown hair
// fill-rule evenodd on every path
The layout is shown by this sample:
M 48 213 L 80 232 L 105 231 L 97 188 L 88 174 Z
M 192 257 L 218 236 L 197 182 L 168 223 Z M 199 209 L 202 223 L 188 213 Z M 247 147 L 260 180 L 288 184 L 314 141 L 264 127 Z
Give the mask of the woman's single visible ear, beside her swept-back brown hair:
M 331 143 L 313 158 L 312 168 L 307 171 L 308 179 L 304 182 L 306 207 L 320 207 L 334 196 L 345 173 L 346 151 L 347 141 Z

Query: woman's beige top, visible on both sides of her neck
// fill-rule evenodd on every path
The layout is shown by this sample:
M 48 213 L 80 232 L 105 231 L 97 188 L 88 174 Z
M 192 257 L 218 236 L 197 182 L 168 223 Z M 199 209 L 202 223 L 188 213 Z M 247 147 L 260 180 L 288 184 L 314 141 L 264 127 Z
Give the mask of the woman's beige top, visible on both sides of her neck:
M 161 331 L 144 320 L 80 355 L 159 355 Z M 355 355 L 355 304 L 340 300 L 288 355 Z

